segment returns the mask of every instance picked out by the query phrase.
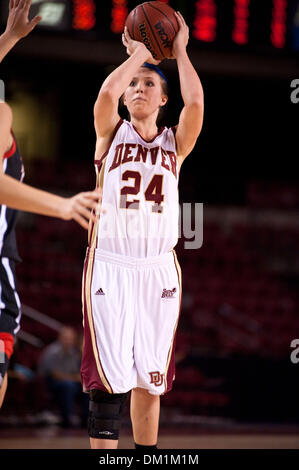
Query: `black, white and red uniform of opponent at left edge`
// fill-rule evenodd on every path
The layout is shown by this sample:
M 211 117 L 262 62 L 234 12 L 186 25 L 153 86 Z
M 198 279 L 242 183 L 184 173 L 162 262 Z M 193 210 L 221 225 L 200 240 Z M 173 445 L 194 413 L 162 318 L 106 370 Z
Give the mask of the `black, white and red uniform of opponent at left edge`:
M 19 181 L 24 178 L 22 158 L 13 136 L 13 145 L 5 153 L 3 173 Z M 21 304 L 16 290 L 15 265 L 21 261 L 15 227 L 18 212 L 0 204 L 0 386 L 20 329 Z

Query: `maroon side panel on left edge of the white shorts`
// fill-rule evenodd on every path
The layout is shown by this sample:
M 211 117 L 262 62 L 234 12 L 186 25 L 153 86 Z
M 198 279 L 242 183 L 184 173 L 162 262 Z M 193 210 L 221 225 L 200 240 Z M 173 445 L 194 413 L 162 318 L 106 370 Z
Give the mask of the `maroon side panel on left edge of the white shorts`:
M 91 279 L 90 280 L 86 279 L 86 272 L 87 272 L 88 264 L 90 262 L 90 256 L 93 256 L 92 270 L 91 270 L 91 279 L 92 279 L 93 268 L 94 268 L 94 255 L 91 255 L 90 250 L 88 249 L 85 262 L 84 262 L 83 286 L 82 286 L 83 287 L 83 316 L 84 316 L 84 348 L 83 348 L 82 362 L 81 362 L 81 378 L 82 378 L 84 391 L 98 389 L 98 390 L 107 392 L 107 388 L 105 387 L 105 385 L 103 384 L 99 376 L 96 360 L 94 357 L 94 352 L 92 348 L 92 340 L 91 340 L 91 332 L 90 332 L 90 327 L 89 327 L 89 319 L 88 319 L 88 313 L 87 313 L 86 282 L 89 282 L 89 281 L 91 282 Z M 98 346 L 96 345 L 96 347 L 98 351 Z M 99 356 L 99 361 L 101 363 L 99 351 L 98 351 L 98 356 Z M 101 367 L 102 367 L 102 364 L 101 364 Z M 102 367 L 102 370 L 103 370 L 103 367 Z M 104 370 L 103 370 L 103 373 L 104 373 Z M 105 375 L 105 379 L 107 383 L 109 384 L 112 390 L 112 387 L 109 381 L 107 380 L 105 373 L 104 375 Z

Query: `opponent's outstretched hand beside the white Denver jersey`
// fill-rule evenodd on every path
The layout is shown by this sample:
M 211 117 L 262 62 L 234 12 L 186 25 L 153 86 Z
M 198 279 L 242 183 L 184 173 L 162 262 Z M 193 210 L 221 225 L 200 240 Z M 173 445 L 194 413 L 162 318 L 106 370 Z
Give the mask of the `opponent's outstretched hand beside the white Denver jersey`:
M 83 228 L 88 230 L 89 220 L 96 220 L 96 212 L 101 210 L 102 192 L 100 190 L 76 194 L 71 198 L 64 198 L 60 207 L 61 218 L 74 219 Z

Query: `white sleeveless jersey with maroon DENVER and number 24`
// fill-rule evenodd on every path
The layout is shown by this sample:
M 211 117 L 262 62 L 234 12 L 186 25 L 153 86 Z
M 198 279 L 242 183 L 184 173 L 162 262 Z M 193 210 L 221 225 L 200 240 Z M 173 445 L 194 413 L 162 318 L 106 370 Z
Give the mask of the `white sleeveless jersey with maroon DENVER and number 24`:
M 90 224 L 90 248 L 136 258 L 170 252 L 177 244 L 179 219 L 173 129 L 161 129 L 148 142 L 131 122 L 120 120 L 95 165 L 106 213 Z

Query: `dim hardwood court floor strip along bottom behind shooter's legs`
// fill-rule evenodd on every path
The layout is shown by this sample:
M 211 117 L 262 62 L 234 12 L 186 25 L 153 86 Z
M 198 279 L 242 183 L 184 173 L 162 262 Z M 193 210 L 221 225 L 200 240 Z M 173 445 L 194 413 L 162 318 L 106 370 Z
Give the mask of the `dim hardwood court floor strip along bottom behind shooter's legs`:
M 88 449 L 85 431 L 57 428 L 1 430 L 0 449 Z M 119 449 L 133 449 L 132 434 L 122 433 Z M 299 449 L 299 430 L 286 433 L 251 430 L 250 432 L 186 432 L 163 430 L 160 449 Z

